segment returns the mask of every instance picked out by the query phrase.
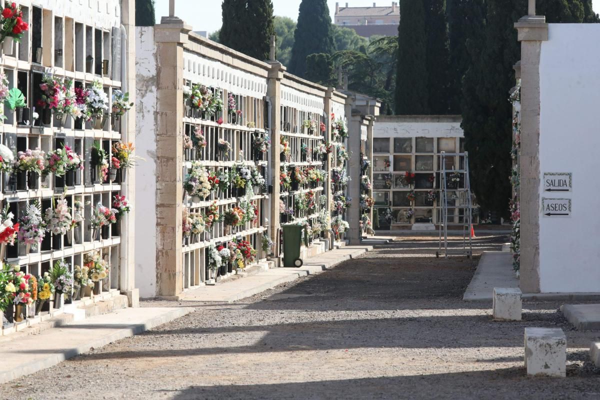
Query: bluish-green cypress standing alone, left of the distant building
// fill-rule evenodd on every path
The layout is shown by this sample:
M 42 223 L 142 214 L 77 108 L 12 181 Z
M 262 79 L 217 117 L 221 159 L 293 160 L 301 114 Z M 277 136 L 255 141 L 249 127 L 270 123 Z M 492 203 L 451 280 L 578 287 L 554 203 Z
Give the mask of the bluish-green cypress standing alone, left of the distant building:
M 314 53 L 331 55 L 334 49 L 327 1 L 302 0 L 298 13 L 298 25 L 294 32 L 290 72 L 304 77 L 308 55 Z

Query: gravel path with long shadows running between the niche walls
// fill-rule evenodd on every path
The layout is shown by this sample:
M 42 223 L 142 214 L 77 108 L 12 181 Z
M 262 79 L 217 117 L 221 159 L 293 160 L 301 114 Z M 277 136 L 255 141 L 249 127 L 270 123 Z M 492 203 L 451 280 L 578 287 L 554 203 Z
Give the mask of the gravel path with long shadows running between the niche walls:
M 479 237 L 475 252 L 505 241 Z M 461 300 L 478 257 L 436 259 L 436 248 L 434 237 L 401 237 L 235 304 L 191 304 L 173 323 L 0 385 L 0 398 L 600 398 L 587 356 L 598 332 L 573 330 L 558 302 L 491 321 L 486 305 Z M 526 377 L 528 326 L 565 330 L 566 379 Z

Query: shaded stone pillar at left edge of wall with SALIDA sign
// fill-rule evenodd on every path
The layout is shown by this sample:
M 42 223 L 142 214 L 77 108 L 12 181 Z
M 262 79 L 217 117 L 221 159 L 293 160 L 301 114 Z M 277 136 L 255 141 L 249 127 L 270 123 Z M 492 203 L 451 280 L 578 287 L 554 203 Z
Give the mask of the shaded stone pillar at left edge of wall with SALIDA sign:
M 548 40 L 544 16 L 515 23 L 521 42 L 521 272 L 523 293 L 539 293 L 539 57 Z

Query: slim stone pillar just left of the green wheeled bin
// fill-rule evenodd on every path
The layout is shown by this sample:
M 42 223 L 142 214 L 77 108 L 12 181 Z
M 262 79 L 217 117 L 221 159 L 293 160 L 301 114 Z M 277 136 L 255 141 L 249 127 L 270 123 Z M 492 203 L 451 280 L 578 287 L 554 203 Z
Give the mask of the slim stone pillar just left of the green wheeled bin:
M 280 154 L 280 132 L 281 132 L 281 79 L 285 67 L 278 61 L 269 62 L 271 70 L 268 75 L 267 96 L 271 101 L 271 182 L 273 191 L 271 193 L 271 217 L 269 218 L 269 231 L 271 231 L 271 240 L 275 243 L 273 254 L 274 261 L 277 266 L 280 266 L 280 218 L 279 218 L 279 200 L 280 200 L 280 185 L 279 171 L 281 167 Z M 265 116 L 269 118 L 268 116 Z

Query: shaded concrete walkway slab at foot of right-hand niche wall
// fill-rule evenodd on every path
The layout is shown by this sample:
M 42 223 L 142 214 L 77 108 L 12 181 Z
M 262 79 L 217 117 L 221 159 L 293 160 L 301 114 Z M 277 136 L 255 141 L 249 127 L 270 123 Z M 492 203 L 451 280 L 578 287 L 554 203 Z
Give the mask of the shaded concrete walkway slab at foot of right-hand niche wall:
M 494 287 L 519 287 L 512 269 L 512 255 L 506 251 L 484 251 L 475 275 L 464 292 L 466 301 L 492 301 Z

